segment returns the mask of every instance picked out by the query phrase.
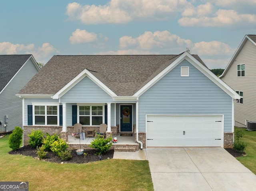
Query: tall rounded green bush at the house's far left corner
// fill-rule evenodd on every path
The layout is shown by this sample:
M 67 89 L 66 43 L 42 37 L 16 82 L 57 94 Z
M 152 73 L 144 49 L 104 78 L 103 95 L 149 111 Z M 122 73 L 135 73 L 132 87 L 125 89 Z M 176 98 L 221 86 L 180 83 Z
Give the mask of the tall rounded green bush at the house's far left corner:
M 16 151 L 18 150 L 18 148 L 20 148 L 20 144 L 22 142 L 22 134 L 23 134 L 23 130 L 20 127 L 15 127 L 12 134 L 10 134 L 8 143 L 9 143 L 9 147 L 13 151 Z

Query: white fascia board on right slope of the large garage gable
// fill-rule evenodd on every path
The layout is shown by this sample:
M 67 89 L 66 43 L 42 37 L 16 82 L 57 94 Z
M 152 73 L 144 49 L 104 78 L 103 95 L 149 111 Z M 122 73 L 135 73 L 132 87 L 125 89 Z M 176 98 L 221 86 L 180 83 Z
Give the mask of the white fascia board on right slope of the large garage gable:
M 224 92 L 226 92 L 230 97 L 234 99 L 240 99 L 241 96 L 238 95 L 231 87 L 229 87 L 224 81 L 219 79 L 214 73 L 212 73 L 209 69 L 204 67 L 197 59 L 195 59 L 192 55 L 186 57 L 196 69 L 201 71 L 208 79 L 210 79 L 213 83 L 215 83 L 218 87 L 220 87 Z

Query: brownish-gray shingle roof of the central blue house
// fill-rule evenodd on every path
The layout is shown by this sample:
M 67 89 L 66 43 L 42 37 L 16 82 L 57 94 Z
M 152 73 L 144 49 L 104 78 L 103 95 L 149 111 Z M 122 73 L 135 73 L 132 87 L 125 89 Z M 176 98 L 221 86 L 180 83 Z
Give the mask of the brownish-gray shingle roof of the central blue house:
M 54 95 L 87 69 L 116 95 L 132 96 L 178 56 L 55 55 L 19 94 Z M 193 56 L 204 65 L 197 55 Z

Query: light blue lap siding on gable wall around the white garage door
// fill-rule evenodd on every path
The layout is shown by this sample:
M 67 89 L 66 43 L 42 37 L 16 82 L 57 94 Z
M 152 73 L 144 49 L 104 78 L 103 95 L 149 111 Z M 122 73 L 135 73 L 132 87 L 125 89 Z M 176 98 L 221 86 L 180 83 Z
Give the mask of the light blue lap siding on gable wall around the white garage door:
M 180 77 L 181 66 L 189 77 Z M 224 132 L 232 131 L 232 98 L 186 60 L 139 97 L 140 132 L 146 114 L 224 114 Z

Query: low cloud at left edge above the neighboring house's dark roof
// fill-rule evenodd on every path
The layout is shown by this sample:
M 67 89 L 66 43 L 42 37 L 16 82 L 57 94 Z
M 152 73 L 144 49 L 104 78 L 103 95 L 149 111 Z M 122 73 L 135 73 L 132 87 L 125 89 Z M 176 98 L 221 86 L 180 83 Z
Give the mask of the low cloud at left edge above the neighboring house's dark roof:
M 1 54 L 32 54 L 37 62 L 46 63 L 54 53 L 59 51 L 50 43 L 43 43 L 41 47 L 35 48 L 34 44 L 13 44 L 10 42 L 0 42 Z

